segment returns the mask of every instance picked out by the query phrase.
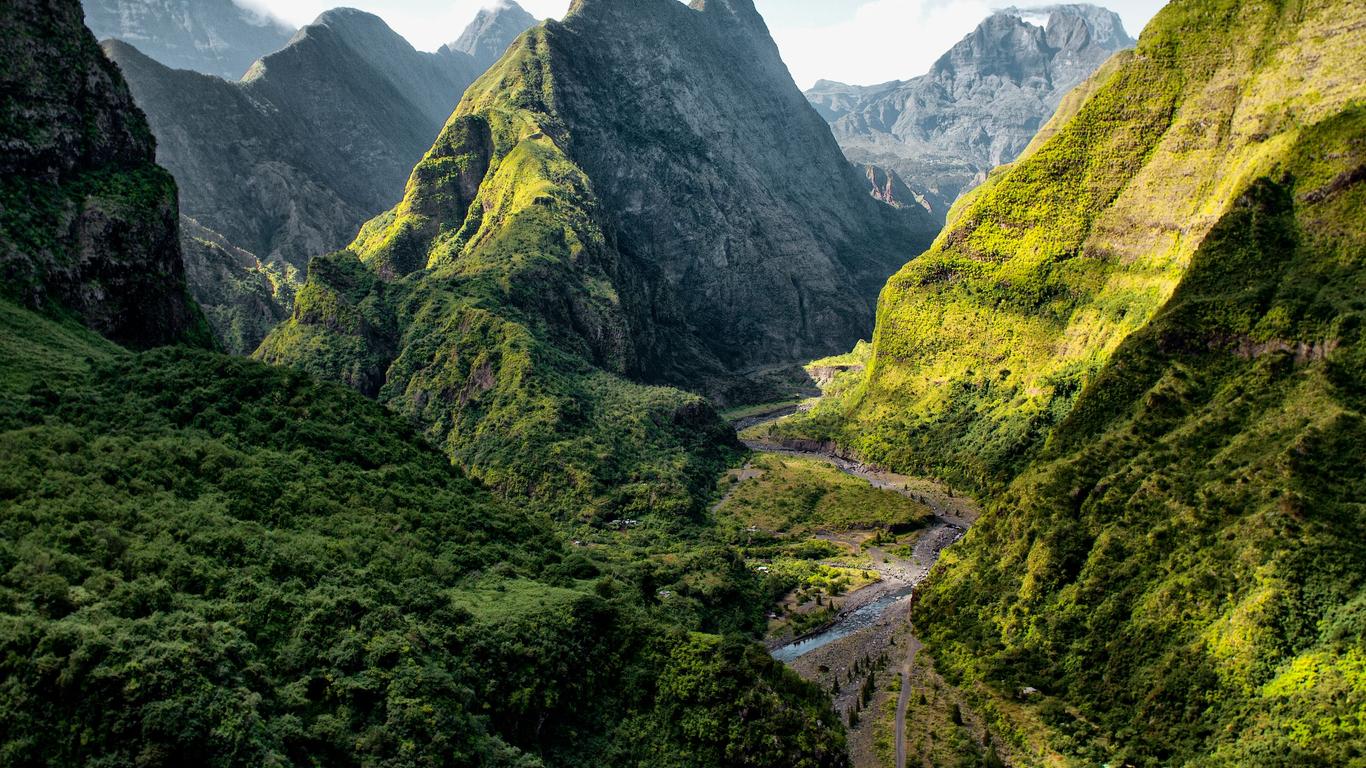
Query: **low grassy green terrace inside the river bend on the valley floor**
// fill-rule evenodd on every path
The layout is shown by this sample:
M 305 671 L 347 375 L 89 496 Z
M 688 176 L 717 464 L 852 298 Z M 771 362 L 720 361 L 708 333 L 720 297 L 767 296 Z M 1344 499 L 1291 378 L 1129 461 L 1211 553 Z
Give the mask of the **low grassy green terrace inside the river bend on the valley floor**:
M 759 454 L 717 508 L 728 527 L 757 526 L 783 534 L 899 530 L 925 526 L 929 507 L 895 491 L 873 488 L 818 459 Z M 734 477 L 734 476 L 732 476 Z M 732 481 L 723 478 L 721 486 Z

